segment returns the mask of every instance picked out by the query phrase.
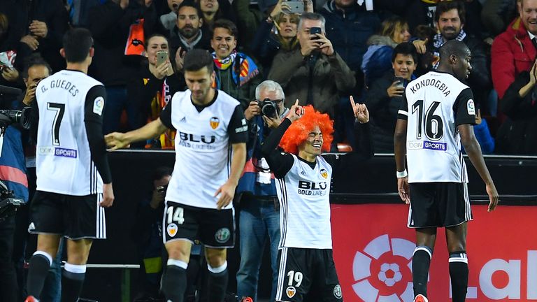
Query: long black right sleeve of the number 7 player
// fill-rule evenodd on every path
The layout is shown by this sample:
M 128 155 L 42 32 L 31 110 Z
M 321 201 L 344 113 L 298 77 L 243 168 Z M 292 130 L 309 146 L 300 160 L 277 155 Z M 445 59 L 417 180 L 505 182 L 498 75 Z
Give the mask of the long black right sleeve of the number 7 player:
M 84 124 L 87 141 L 90 144 L 92 161 L 99 171 L 103 183 L 112 182 L 112 173 L 108 164 L 108 153 L 103 136 L 103 109 L 106 100 L 106 90 L 103 85 L 92 87 L 86 94 Z

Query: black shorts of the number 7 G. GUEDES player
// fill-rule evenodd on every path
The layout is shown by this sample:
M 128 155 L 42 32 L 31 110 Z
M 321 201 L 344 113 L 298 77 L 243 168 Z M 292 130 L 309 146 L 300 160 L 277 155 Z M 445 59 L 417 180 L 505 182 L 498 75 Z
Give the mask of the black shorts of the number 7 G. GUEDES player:
M 36 191 L 30 204 L 30 233 L 51 233 L 69 239 L 106 238 L 103 194 L 85 196 Z

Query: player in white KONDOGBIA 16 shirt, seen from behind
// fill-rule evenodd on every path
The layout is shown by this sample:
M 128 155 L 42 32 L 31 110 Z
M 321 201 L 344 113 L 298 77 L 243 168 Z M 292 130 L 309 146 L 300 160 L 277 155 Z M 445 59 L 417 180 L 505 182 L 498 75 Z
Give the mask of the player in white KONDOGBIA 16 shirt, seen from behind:
M 408 84 L 399 110 L 394 134 L 396 176 L 399 196 L 410 203 L 408 227 L 416 230 L 415 302 L 427 302 L 427 276 L 438 227 L 445 227 L 452 299 L 466 298 L 466 222 L 472 220 L 472 213 L 461 145 L 485 182 L 489 211 L 499 201 L 473 134 L 473 95 L 461 82 L 470 74 L 470 59 L 464 43 L 447 41 L 440 49 L 438 69 Z

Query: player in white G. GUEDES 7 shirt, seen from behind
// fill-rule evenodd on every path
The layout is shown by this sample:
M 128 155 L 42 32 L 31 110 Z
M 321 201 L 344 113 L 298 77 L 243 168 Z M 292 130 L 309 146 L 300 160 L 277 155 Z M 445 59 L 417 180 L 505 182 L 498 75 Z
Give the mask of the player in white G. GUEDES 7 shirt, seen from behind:
M 29 231 L 38 233 L 30 259 L 27 302 L 38 301 L 60 236 L 67 238 L 62 301 L 78 301 L 92 239 L 106 238 L 104 208 L 114 194 L 103 139 L 106 92 L 86 75 L 94 55 L 87 29 L 71 29 L 60 50 L 67 69 L 39 82 L 32 109 L 37 139 L 37 190 Z

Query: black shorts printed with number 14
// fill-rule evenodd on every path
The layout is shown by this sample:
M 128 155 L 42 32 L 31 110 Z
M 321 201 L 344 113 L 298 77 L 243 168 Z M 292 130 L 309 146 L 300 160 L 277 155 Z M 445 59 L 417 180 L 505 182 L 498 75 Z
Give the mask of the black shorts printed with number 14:
M 164 243 L 200 240 L 206 247 L 235 246 L 234 208 L 217 210 L 166 201 L 162 232 Z

